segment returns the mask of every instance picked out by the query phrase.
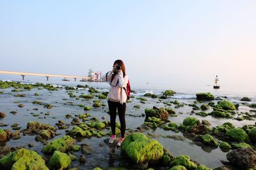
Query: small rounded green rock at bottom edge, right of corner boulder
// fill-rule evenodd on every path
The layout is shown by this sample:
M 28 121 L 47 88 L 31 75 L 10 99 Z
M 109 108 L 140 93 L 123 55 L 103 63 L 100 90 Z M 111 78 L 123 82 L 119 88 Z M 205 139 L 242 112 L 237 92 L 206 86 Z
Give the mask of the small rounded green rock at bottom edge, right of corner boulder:
M 49 166 L 51 169 L 67 169 L 71 164 L 71 159 L 67 153 L 61 153 L 60 151 L 54 151 Z

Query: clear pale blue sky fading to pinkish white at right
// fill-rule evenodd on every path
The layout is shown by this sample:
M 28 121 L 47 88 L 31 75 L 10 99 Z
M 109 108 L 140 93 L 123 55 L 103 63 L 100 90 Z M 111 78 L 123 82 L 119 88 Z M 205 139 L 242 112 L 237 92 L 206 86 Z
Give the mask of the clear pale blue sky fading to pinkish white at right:
M 0 1 L 0 70 L 256 84 L 256 1 Z

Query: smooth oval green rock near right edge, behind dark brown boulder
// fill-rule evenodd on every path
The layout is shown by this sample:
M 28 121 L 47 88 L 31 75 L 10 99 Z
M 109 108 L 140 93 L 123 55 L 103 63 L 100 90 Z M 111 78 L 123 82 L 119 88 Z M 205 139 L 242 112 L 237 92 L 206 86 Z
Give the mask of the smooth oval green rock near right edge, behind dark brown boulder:
M 226 135 L 237 142 L 250 141 L 246 132 L 241 128 L 230 129 L 226 132 Z

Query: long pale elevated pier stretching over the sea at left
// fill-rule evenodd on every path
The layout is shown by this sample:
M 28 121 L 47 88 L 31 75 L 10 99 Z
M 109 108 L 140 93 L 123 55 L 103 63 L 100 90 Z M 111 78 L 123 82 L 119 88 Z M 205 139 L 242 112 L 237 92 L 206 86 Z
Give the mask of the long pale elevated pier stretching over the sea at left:
M 77 78 L 81 78 L 83 80 L 90 80 L 88 76 L 71 76 L 71 75 L 61 75 L 61 74 L 42 74 L 42 73 L 26 73 L 26 72 L 16 72 L 16 71 L 0 71 L 0 74 L 13 74 L 22 76 L 22 80 L 24 80 L 25 76 L 44 76 L 46 80 L 49 81 L 50 77 L 61 77 L 61 78 L 74 78 L 76 81 Z

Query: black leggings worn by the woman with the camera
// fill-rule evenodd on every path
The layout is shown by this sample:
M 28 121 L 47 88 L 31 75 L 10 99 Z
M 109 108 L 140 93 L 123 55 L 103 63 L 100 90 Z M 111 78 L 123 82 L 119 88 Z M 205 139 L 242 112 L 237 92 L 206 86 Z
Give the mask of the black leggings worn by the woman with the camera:
M 108 108 L 110 113 L 110 125 L 111 125 L 111 131 L 112 134 L 116 134 L 116 108 L 118 111 L 118 117 L 121 124 L 121 136 L 124 138 L 125 134 L 125 110 L 126 110 L 126 104 L 120 104 L 118 102 L 114 101 L 108 101 Z

